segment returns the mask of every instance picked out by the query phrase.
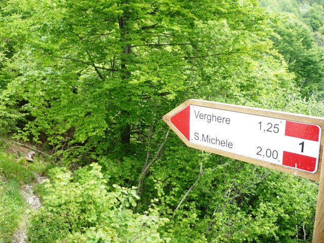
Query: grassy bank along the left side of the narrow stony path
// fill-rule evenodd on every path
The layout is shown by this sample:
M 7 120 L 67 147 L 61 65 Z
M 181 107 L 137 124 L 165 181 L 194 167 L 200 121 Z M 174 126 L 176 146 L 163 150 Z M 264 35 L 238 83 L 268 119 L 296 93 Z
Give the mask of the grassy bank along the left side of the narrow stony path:
M 25 149 L 0 137 L 0 243 L 12 242 L 28 208 L 20 193 L 21 186 L 35 184 L 34 174 L 43 176 L 51 166 L 38 153 L 30 163 L 24 153 Z M 35 185 L 33 190 L 41 197 L 45 194 L 43 184 Z

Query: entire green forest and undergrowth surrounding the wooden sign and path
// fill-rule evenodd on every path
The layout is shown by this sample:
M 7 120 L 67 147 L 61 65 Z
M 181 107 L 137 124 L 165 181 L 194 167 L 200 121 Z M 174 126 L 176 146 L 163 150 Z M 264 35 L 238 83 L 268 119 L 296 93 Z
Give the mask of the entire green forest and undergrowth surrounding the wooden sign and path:
M 312 241 L 318 182 L 187 147 L 163 116 L 324 117 L 323 0 L 1 0 L 0 29 L 1 243 L 26 212 L 32 243 Z

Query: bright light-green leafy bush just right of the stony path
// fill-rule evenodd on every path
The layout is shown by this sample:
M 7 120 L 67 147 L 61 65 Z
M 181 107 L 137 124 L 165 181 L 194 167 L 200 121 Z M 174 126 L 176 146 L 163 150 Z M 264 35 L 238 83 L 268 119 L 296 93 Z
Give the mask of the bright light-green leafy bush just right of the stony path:
M 107 186 L 97 164 L 75 171 L 56 170 L 46 184 L 44 207 L 33 216 L 31 242 L 165 242 L 157 229 L 167 219 L 153 201 L 144 214 L 133 214 L 135 188 Z

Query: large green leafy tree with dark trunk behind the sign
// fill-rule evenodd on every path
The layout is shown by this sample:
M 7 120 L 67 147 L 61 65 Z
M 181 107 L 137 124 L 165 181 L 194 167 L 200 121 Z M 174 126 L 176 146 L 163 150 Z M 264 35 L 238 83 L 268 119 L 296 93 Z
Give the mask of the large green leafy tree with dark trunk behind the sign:
M 187 97 L 245 103 L 287 89 L 281 80 L 292 77 L 275 61 L 268 16 L 255 4 L 13 1 L 26 17 L 12 25 L 28 45 L 2 97 L 6 107 L 24 101 L 19 136 L 45 137 L 56 150 L 86 145 L 96 157 L 128 154 L 138 149 L 125 144 L 146 143 L 152 117 Z M 262 72 L 276 74 L 254 82 Z

